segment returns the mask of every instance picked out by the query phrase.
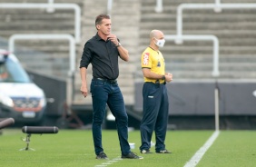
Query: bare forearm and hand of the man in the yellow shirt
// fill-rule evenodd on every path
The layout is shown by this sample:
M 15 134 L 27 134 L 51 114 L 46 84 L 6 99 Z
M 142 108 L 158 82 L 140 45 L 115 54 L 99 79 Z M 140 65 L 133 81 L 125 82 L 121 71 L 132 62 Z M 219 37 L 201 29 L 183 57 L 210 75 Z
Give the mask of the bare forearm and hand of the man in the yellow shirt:
M 151 71 L 150 68 L 143 68 L 143 76 L 154 80 L 164 79 L 167 83 L 170 83 L 172 81 L 172 74 L 155 74 Z

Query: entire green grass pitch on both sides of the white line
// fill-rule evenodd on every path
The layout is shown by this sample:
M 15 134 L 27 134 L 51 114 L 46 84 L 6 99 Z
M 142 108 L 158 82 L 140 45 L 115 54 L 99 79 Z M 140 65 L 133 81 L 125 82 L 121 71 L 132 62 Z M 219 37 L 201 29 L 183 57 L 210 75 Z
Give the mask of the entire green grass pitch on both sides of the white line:
M 32 134 L 30 148 L 35 151 L 19 151 L 26 143 L 21 140 L 21 130 L 5 128 L 0 135 L 1 166 L 173 166 L 182 167 L 212 135 L 212 131 L 170 131 L 166 136 L 166 148 L 172 154 L 141 154 L 140 132 L 129 133 L 129 142 L 143 160 L 96 160 L 92 132 L 88 130 L 60 130 L 57 134 Z M 221 132 L 212 147 L 202 157 L 198 166 L 254 166 L 256 160 L 256 133 L 254 131 Z M 154 142 L 154 138 L 153 138 Z M 116 131 L 103 131 L 104 152 L 110 161 L 120 157 L 121 151 Z M 151 149 L 154 152 L 154 147 Z

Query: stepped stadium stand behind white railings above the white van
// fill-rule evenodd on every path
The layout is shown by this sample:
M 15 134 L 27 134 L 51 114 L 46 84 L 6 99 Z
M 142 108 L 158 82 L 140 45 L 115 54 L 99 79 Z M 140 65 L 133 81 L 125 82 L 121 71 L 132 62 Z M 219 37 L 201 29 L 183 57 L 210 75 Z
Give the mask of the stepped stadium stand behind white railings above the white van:
M 4 1 L 0 3 L 44 3 L 47 1 Z M 82 0 L 55 1 L 55 3 L 75 3 L 83 6 Z M 8 39 L 12 34 L 74 34 L 74 10 L 59 9 L 48 13 L 45 9 L 5 9 L 1 8 L 0 36 Z M 5 24 L 2 24 L 5 23 Z M 69 69 L 68 41 L 61 40 L 20 40 L 16 50 L 22 64 L 39 74 L 66 78 Z

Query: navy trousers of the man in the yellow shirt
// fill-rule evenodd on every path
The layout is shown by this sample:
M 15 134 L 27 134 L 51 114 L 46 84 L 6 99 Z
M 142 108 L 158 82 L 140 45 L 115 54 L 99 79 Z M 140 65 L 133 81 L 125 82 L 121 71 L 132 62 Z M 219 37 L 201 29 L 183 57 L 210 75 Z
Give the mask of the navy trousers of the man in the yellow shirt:
M 140 150 L 151 148 L 153 131 L 155 132 L 155 151 L 165 149 L 168 113 L 169 101 L 165 83 L 144 83 Z

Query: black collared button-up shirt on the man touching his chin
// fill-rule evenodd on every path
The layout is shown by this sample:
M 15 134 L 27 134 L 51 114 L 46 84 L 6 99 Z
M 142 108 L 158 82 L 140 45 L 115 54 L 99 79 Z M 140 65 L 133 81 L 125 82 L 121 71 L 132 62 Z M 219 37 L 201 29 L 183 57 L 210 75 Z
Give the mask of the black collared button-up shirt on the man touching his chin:
M 119 75 L 119 52 L 110 40 L 104 41 L 98 34 L 84 44 L 80 68 L 93 66 L 93 76 L 114 80 Z

